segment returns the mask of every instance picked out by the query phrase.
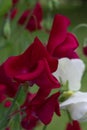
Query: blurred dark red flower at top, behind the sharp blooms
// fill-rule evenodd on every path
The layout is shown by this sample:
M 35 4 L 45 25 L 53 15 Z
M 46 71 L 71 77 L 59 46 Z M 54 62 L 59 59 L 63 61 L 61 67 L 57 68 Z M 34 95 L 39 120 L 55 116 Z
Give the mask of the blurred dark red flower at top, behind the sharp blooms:
M 18 23 L 24 25 L 26 24 L 27 19 L 29 19 L 26 24 L 27 30 L 32 32 L 37 29 L 41 29 L 42 14 L 43 14 L 42 7 L 39 3 L 37 3 L 32 14 L 31 14 L 31 10 L 26 10 L 23 12 Z

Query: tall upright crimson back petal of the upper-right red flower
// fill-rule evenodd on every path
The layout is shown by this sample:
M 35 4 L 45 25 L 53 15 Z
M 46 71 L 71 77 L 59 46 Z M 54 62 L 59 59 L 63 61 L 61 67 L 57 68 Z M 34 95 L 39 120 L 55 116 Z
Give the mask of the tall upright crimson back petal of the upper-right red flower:
M 53 54 L 55 48 L 65 40 L 69 24 L 70 21 L 67 17 L 62 15 L 55 16 L 47 44 L 47 49 L 51 54 Z

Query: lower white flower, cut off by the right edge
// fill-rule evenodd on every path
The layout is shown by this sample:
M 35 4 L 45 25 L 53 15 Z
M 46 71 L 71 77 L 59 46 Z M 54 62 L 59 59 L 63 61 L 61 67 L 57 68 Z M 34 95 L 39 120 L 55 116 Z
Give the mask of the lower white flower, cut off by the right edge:
M 73 120 L 87 121 L 87 93 L 74 93 L 60 104 L 60 108 L 68 110 Z

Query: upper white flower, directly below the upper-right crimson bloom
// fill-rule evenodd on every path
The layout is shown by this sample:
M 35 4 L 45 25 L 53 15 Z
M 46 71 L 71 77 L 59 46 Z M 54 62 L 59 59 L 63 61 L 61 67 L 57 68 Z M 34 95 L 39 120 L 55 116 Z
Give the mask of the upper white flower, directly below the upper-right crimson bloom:
M 58 69 L 53 75 L 62 80 L 63 84 L 68 81 L 69 90 L 77 91 L 81 87 L 81 78 L 85 65 L 80 59 L 62 58 L 59 60 Z

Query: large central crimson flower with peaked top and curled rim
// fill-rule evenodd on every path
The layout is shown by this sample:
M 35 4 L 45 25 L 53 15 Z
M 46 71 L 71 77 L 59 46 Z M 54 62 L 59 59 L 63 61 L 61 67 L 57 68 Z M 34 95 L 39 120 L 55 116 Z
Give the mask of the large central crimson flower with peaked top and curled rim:
M 20 82 L 36 83 L 41 88 L 58 88 L 59 83 L 51 72 L 57 68 L 57 60 L 49 55 L 38 38 L 21 55 L 12 56 L 4 63 L 11 78 Z

